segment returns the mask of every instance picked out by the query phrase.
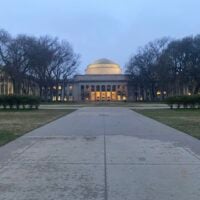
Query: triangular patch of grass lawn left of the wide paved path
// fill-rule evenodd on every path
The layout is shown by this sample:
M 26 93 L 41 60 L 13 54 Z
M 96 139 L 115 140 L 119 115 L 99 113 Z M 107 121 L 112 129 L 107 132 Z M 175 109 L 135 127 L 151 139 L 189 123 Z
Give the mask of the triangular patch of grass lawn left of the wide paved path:
M 74 110 L 0 110 L 0 146 Z

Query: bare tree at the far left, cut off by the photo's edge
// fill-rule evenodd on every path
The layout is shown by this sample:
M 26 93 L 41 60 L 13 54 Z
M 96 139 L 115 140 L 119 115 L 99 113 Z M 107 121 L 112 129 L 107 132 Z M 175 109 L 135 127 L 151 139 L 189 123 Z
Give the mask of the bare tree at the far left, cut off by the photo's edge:
M 3 70 L 13 82 L 15 94 L 23 93 L 23 81 L 29 71 L 27 52 L 31 39 L 26 35 L 11 38 L 5 31 L 0 32 L 0 62 L 3 65 Z

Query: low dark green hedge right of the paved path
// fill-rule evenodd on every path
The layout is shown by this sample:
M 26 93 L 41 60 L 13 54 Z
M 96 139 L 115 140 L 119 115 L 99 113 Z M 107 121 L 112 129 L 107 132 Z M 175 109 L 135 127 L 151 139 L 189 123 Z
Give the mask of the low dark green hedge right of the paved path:
M 200 95 L 192 96 L 173 96 L 168 97 L 165 102 L 171 109 L 176 108 L 200 108 Z

